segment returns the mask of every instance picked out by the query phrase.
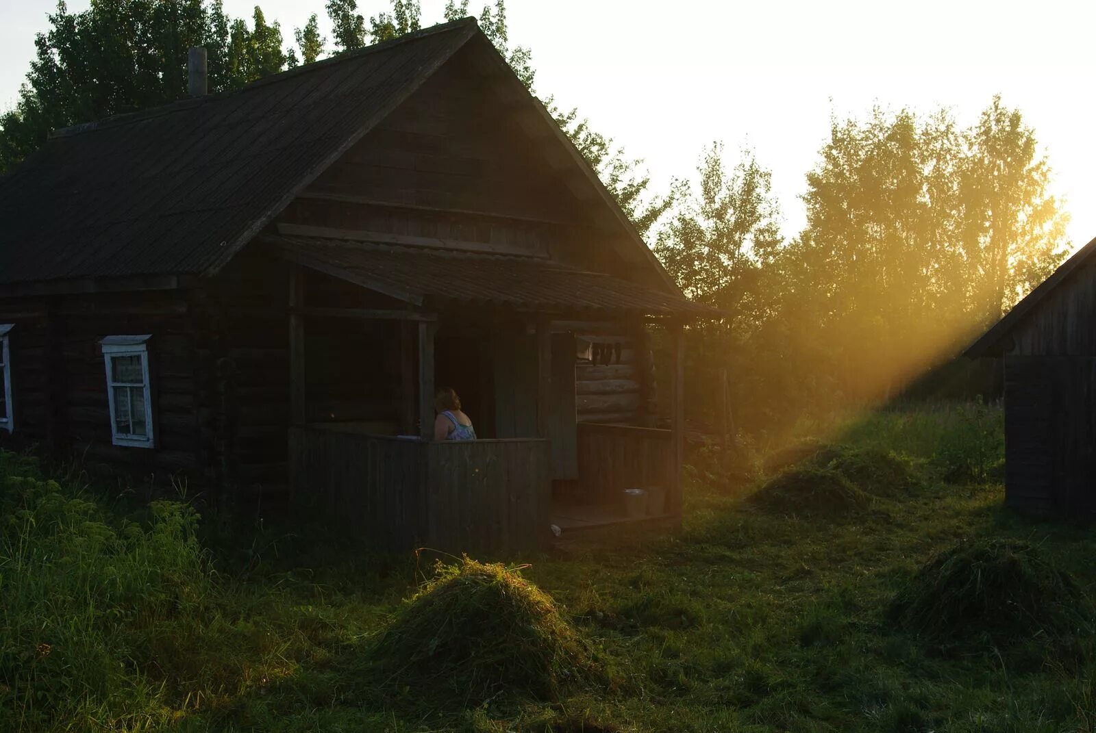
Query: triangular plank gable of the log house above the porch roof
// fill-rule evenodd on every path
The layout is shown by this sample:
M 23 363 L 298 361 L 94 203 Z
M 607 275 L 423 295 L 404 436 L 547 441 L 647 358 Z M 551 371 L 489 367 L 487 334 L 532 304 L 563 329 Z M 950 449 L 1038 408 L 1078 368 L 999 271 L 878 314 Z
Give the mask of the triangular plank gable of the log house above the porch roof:
M 550 256 L 651 279 L 649 265 L 621 260 L 614 247 L 620 233 L 595 225 L 591 202 L 575 196 L 479 79 L 458 54 L 317 177 L 278 224 L 287 233 L 357 232 Z

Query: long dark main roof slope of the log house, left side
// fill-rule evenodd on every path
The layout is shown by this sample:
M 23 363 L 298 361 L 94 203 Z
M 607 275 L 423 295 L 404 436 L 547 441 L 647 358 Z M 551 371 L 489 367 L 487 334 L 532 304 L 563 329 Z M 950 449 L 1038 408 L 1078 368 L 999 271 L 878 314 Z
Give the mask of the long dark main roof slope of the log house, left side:
M 0 179 L 0 283 L 216 272 L 477 34 L 456 21 L 58 133 Z

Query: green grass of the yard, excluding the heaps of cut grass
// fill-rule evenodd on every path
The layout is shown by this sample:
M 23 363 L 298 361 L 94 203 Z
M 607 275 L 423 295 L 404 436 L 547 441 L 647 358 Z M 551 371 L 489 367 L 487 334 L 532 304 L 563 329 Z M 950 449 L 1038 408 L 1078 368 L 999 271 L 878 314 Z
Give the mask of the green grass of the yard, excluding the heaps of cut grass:
M 521 559 L 605 682 L 473 710 L 370 666 L 425 558 L 270 523 L 206 517 L 195 530 L 170 505 L 124 523 L 71 499 L 78 474 L 12 478 L 37 469 L 5 454 L 0 729 L 1096 731 L 1096 644 L 944 649 L 888 621 L 927 557 L 961 539 L 1028 540 L 1093 589 L 1091 528 L 1002 508 L 1000 411 L 910 408 L 804 430 L 894 451 L 914 481 L 865 485 L 855 512 L 787 514 L 747 499 L 762 479 L 735 478 L 740 457 L 698 451 L 680 534 Z

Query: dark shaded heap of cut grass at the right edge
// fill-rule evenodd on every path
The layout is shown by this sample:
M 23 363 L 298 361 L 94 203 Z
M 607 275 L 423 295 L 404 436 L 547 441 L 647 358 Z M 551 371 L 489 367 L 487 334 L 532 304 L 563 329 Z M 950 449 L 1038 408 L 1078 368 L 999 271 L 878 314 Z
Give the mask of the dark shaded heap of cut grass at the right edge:
M 1062 645 L 1094 630 L 1092 604 L 1073 577 L 1014 539 L 963 541 L 936 553 L 889 612 L 902 628 L 945 644 Z

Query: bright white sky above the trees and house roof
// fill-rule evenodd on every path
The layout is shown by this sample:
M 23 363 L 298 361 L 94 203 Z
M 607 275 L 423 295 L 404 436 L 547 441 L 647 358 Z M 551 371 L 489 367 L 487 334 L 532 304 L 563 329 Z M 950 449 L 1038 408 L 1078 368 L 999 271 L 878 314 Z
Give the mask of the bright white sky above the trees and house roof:
M 386 0 L 358 0 L 374 14 Z M 254 0 L 225 0 L 250 15 Z M 324 0 L 261 0 L 283 36 Z M 422 0 L 423 21 L 445 0 Z M 472 0 L 478 14 L 483 0 Z M 803 222 L 799 195 L 831 114 L 863 116 L 876 102 L 972 123 L 1001 93 L 1035 127 L 1055 193 L 1068 198 L 1074 247 L 1096 237 L 1096 3 L 923 0 L 917 3 L 711 0 L 507 0 L 511 42 L 533 49 L 537 90 L 576 106 L 647 161 L 653 184 L 692 173 L 701 148 L 752 147 L 773 171 L 785 233 Z M 88 0 L 71 0 L 83 10 Z M 15 99 L 47 27 L 52 0 L 0 5 L 0 107 Z M 326 31 L 327 33 L 327 31 Z M 328 34 L 330 35 L 330 34 Z

